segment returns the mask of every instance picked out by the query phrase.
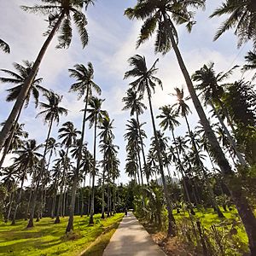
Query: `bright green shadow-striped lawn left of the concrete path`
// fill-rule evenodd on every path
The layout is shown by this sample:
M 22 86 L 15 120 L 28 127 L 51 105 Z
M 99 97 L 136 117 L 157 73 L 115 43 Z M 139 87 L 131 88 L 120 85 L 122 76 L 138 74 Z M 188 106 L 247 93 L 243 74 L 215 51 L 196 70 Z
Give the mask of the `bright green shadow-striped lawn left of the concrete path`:
M 82 252 L 83 255 L 102 255 L 123 216 L 123 213 L 117 213 L 101 219 L 101 214 L 96 214 L 93 226 L 89 225 L 89 217 L 75 216 L 74 234 L 68 239 L 65 236 L 67 217 L 61 218 L 61 224 L 54 224 L 51 218 L 42 218 L 29 230 L 26 230 L 24 220 L 18 220 L 15 226 L 1 223 L 0 255 L 73 256 Z

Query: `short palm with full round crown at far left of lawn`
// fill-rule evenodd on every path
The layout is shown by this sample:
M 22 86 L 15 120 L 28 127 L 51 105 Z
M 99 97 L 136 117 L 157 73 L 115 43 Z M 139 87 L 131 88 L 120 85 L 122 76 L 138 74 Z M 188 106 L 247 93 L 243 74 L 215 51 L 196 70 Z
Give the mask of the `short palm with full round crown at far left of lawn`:
M 28 170 L 31 170 L 33 166 L 36 166 L 36 164 L 39 162 L 39 158 L 42 157 L 42 154 L 38 153 L 38 149 L 41 147 L 42 145 L 37 145 L 36 140 L 32 139 L 26 141 L 24 146 L 14 151 L 15 154 L 18 154 L 18 157 L 15 158 L 14 166 L 17 172 L 20 173 L 21 184 L 12 224 L 15 224 L 16 212 L 20 205 L 21 193 L 24 181 L 26 179 L 26 174 Z

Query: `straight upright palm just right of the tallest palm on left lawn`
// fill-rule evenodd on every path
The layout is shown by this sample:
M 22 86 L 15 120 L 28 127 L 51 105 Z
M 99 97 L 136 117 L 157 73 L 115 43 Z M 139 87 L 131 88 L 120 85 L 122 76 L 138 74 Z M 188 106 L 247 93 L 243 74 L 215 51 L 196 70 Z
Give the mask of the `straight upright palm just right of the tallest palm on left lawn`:
M 104 117 L 108 116 L 106 110 L 102 110 L 102 102 L 105 100 L 99 99 L 92 96 L 89 102 L 90 108 L 88 109 L 89 116 L 87 119 L 90 122 L 89 128 L 94 125 L 94 149 L 93 149 L 93 172 L 92 172 L 92 185 L 91 185 L 91 201 L 90 201 L 90 224 L 94 224 L 93 214 L 94 214 L 94 196 L 95 196 L 95 177 L 96 177 L 96 128 L 99 123 L 102 122 Z

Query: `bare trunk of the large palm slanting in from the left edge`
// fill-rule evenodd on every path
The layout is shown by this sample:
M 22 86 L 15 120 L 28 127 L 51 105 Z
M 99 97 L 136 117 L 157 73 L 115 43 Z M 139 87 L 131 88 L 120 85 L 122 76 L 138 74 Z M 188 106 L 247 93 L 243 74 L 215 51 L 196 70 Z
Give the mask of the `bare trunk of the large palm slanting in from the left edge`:
M 60 17 L 55 23 L 55 26 L 49 33 L 48 38 L 45 40 L 42 49 L 40 49 L 38 57 L 36 61 L 34 62 L 34 65 L 32 67 L 31 72 L 29 73 L 28 77 L 26 78 L 24 85 L 22 86 L 22 89 L 20 90 L 20 94 L 17 97 L 17 100 L 15 102 L 15 106 L 13 107 L 11 113 L 9 114 L 9 118 L 6 120 L 5 125 L 3 126 L 3 130 L 0 132 L 0 150 L 3 148 L 3 143 L 5 142 L 6 138 L 8 137 L 9 131 L 11 130 L 12 125 L 15 122 L 15 118 L 17 117 L 20 108 L 22 108 L 23 103 L 26 100 L 27 93 L 32 85 L 33 79 L 35 79 L 36 74 L 38 73 L 38 69 L 40 67 L 41 61 L 44 58 L 44 55 L 46 53 L 46 50 L 49 47 L 49 44 L 55 36 L 55 32 L 59 29 L 61 25 L 61 21 L 64 18 L 65 13 L 62 12 Z

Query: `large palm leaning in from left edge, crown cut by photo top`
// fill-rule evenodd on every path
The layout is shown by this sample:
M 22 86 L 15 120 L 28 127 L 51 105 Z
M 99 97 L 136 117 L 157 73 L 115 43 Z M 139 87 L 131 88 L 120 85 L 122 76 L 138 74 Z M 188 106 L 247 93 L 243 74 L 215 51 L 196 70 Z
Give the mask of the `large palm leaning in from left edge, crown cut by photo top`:
M 32 7 L 21 6 L 26 12 L 32 14 L 48 15 L 49 17 L 49 31 L 46 32 L 48 37 L 46 38 L 42 48 L 40 49 L 37 59 L 32 66 L 32 70 L 29 73 L 26 82 L 20 90 L 20 94 L 17 97 L 15 105 L 9 114 L 9 118 L 6 124 L 3 126 L 3 130 L 0 133 L 0 149 L 3 147 L 3 143 L 8 137 L 8 133 L 11 129 L 11 125 L 14 123 L 16 116 L 18 115 L 20 108 L 22 108 L 23 102 L 26 100 L 26 96 L 32 81 L 38 73 L 41 61 L 55 36 L 56 32 L 59 32 L 57 48 L 68 48 L 72 40 L 72 20 L 73 24 L 77 26 L 79 36 L 81 38 L 83 48 L 88 43 L 88 34 L 86 31 L 87 20 L 83 13 L 83 9 L 87 9 L 90 3 L 94 3 L 93 0 L 42 0 L 42 4 L 36 4 Z

